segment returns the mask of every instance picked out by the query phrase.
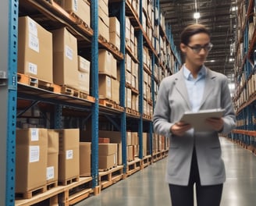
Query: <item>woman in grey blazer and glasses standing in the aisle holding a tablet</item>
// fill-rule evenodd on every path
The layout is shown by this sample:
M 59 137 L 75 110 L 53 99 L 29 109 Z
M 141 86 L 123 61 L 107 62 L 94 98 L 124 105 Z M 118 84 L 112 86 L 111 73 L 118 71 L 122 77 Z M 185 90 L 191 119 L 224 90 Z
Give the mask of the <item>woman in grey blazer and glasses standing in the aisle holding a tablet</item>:
M 201 24 L 186 27 L 180 50 L 185 63 L 178 73 L 165 77 L 155 105 L 155 133 L 170 138 L 166 180 L 172 206 L 219 206 L 226 180 L 218 133 L 229 133 L 236 126 L 228 80 L 204 66 L 212 49 L 209 31 Z M 212 130 L 198 132 L 180 121 L 184 112 L 223 108 L 222 118 L 209 118 Z M 197 121 L 197 119 L 194 119 Z

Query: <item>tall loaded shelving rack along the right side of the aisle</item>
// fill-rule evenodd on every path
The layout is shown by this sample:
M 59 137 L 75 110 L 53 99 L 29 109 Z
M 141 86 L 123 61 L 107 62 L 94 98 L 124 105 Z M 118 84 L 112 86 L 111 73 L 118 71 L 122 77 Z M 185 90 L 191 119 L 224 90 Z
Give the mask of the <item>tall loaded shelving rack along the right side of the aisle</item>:
M 254 68 L 256 56 L 254 52 L 254 44 L 256 42 L 256 30 L 254 23 L 253 34 L 251 41 L 249 41 L 249 23 L 253 21 L 253 16 L 251 14 L 254 14 L 256 5 L 255 1 L 253 0 L 247 0 L 245 2 L 238 1 L 237 5 L 239 7 L 238 15 L 242 24 L 242 28 L 240 30 L 242 37 L 237 40 L 237 48 L 240 46 L 240 42 L 244 43 L 244 47 L 240 51 L 244 56 L 243 59 L 237 60 L 238 64 L 240 63 L 240 65 L 238 65 L 239 69 L 236 71 L 236 87 L 238 90 L 236 92 L 236 96 L 234 97 L 234 101 L 236 105 L 236 119 L 239 125 L 236 126 L 236 130 L 233 130 L 231 138 L 245 148 L 249 148 L 251 151 L 256 153 L 256 132 L 254 122 L 256 118 L 256 98 L 254 95 L 255 91 L 254 94 L 249 94 L 248 92 L 250 87 L 250 79 L 255 75 Z M 244 97 L 246 97 L 246 100 Z M 240 101 L 240 98 L 243 99 L 243 102 Z

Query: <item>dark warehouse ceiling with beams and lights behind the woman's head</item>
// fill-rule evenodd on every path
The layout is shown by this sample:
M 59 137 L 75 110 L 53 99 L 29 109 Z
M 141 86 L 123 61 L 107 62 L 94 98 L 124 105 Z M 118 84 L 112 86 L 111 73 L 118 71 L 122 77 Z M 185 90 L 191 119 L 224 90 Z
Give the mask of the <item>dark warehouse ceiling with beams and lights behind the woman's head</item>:
M 236 0 L 159 0 L 165 25 L 171 25 L 176 48 L 180 51 L 180 33 L 191 23 L 204 24 L 210 30 L 214 45 L 205 65 L 234 81 L 234 59 L 231 44 L 236 41 Z M 200 18 L 194 19 L 194 12 Z

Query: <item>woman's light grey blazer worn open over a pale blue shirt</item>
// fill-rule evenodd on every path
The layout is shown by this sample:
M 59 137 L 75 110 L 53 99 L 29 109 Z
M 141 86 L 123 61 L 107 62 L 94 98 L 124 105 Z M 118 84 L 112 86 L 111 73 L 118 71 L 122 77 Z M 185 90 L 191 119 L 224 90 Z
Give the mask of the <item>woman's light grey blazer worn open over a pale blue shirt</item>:
M 229 133 L 235 128 L 236 116 L 227 77 L 207 68 L 200 109 L 208 108 L 225 108 L 222 133 Z M 226 172 L 217 132 L 186 133 L 183 137 L 176 137 L 169 133 L 170 127 L 180 120 L 184 112 L 190 110 L 182 68 L 178 73 L 162 80 L 153 115 L 155 133 L 170 138 L 166 172 L 167 183 L 187 186 L 194 147 L 197 153 L 201 185 L 223 183 L 226 180 Z

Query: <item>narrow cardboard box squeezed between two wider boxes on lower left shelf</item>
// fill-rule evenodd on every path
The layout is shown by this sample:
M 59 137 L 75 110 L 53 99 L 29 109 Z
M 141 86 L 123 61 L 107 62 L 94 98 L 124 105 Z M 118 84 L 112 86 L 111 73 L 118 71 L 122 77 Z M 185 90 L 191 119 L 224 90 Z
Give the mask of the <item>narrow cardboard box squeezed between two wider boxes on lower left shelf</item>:
M 48 130 L 47 183 L 58 181 L 59 169 L 59 133 Z

